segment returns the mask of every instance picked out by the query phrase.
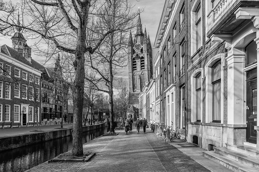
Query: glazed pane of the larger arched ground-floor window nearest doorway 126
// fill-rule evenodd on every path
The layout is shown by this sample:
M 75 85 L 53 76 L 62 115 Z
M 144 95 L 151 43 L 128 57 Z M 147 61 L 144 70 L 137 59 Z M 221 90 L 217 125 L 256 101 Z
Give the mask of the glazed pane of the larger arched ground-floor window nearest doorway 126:
M 211 84 L 213 85 L 213 122 L 221 121 L 221 61 L 212 66 Z

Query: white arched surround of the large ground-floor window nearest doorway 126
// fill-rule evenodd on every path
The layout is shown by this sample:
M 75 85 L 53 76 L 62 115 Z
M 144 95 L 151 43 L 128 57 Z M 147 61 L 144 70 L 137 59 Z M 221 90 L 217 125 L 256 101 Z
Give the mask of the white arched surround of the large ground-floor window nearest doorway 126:
M 205 122 L 206 123 L 210 123 L 213 120 L 213 85 L 211 84 L 212 81 L 212 69 L 211 67 L 213 66 L 213 64 L 215 64 L 215 62 L 217 62 L 218 60 L 221 60 L 221 124 L 223 124 L 223 97 L 224 97 L 224 87 L 223 87 L 223 67 L 225 66 L 224 63 L 224 59 L 225 59 L 225 54 L 221 53 L 221 54 L 217 54 L 215 56 L 213 56 L 205 65 L 205 85 L 206 85 L 206 100 L 205 100 L 205 114 L 206 114 L 206 119 Z

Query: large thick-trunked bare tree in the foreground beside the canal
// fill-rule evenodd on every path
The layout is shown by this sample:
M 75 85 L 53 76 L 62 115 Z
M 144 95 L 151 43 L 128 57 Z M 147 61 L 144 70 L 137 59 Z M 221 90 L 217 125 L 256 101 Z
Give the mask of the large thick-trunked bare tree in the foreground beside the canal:
M 32 38 L 40 39 L 38 41 L 40 47 L 41 43 L 47 44 L 47 48 L 41 48 L 41 52 L 47 55 L 57 51 L 74 54 L 72 156 L 83 155 L 81 114 L 85 84 L 85 54 L 93 54 L 106 36 L 119 29 L 114 25 L 106 30 L 95 30 L 89 23 L 89 18 L 96 21 L 100 7 L 111 6 L 111 3 L 111 0 L 24 0 L 18 4 L 13 4 L 11 1 L 0 3 L 1 34 L 11 35 L 13 29 L 18 27 L 21 32 L 28 31 Z M 15 20 L 18 8 L 21 9 L 21 23 Z M 94 34 L 94 39 L 91 41 L 88 40 L 89 34 Z

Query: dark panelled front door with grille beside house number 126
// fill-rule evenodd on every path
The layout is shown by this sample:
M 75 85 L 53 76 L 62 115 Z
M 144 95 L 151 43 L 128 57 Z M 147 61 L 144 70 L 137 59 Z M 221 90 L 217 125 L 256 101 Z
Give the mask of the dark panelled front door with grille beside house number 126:
M 246 75 L 246 141 L 256 144 L 257 124 L 257 75 L 256 69 L 247 72 Z

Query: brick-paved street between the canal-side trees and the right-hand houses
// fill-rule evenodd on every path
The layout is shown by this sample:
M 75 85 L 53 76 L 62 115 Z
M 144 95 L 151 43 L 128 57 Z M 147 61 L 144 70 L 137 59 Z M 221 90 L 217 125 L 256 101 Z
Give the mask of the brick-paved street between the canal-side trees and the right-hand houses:
M 140 129 L 141 130 L 141 129 Z M 37 172 L 87 172 L 87 171 L 174 171 L 209 172 L 205 167 L 183 154 L 150 131 L 145 134 L 125 134 L 117 130 L 117 136 L 98 137 L 83 145 L 84 150 L 96 152 L 89 162 L 43 163 L 30 171 Z

